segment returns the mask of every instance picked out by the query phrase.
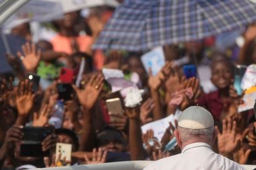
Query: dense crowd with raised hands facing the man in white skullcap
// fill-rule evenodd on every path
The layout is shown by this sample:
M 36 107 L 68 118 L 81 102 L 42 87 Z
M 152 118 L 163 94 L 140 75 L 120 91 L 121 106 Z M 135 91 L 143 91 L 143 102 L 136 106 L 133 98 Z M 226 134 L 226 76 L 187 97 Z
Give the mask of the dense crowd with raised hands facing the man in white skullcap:
M 237 111 L 243 94 L 237 94 L 234 88 L 234 70 L 237 64 L 256 63 L 256 25 L 249 25 L 242 33 L 242 47 L 234 44 L 221 52 L 215 47 L 214 36 L 166 45 L 165 65 L 153 75 L 151 71 L 147 73 L 140 60 L 145 52 L 92 49 L 113 11 L 108 7 L 92 10 L 86 18 L 81 17 L 80 11 L 66 13 L 62 19 L 49 23 L 47 30 L 55 31 L 53 37 L 41 35 L 38 41 L 33 41 L 30 23 L 12 28 L 13 36 L 27 42 L 20 46 L 22 51 L 6 55 L 12 72 L 1 73 L 1 167 L 45 168 L 173 156 L 181 153 L 181 148 L 164 148 L 174 138 L 177 121 L 169 124 L 160 141 L 151 129 L 143 134 L 141 126 L 179 114 L 192 105 L 206 108 L 213 116 L 218 129 L 212 145 L 216 153 L 239 164 L 255 164 L 256 112 Z M 82 80 L 76 86 L 83 60 Z M 197 66 L 196 77 L 186 78 L 182 73 L 187 63 Z M 62 68 L 74 73 L 68 100 L 61 99 L 58 92 L 58 84 L 65 83 L 60 78 Z M 134 84 L 144 90 L 141 105 L 122 105 L 122 113 L 109 113 L 106 100 L 119 98 L 124 103 L 124 98 L 119 91 L 109 91 L 103 68 L 122 70 L 130 81 L 131 75 L 136 74 L 139 81 Z M 38 88 L 28 75 L 40 76 Z M 24 152 L 20 147 L 24 144 L 23 129 L 52 127 L 49 119 L 60 111 L 59 103 L 64 104 L 62 123 L 42 140 L 44 154 L 20 155 Z M 72 145 L 70 161 L 56 155 L 57 143 Z

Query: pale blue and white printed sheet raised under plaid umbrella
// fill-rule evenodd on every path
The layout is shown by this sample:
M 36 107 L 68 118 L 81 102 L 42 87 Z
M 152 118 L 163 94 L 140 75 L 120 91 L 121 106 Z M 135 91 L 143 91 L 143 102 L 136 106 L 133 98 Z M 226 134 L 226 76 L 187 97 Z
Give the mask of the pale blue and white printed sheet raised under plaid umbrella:
M 163 47 L 156 47 L 150 52 L 142 55 L 141 57 L 143 66 L 148 73 L 148 68 L 151 68 L 153 76 L 164 66 L 164 52 Z

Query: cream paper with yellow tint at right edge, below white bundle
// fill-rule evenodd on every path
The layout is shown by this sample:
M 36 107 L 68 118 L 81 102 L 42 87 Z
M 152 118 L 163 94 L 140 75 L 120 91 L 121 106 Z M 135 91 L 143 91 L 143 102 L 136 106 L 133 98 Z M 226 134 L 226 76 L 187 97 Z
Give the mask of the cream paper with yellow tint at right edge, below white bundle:
M 256 99 L 256 92 L 252 92 L 250 94 L 245 94 L 242 98 L 244 100 L 244 103 L 242 105 L 239 105 L 238 111 L 246 111 L 254 108 L 254 103 Z

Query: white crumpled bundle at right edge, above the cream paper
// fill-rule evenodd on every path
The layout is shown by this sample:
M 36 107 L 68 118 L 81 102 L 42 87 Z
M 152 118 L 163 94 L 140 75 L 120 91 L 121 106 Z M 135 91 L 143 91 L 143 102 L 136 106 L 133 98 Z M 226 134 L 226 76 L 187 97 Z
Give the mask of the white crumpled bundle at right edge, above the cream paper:
M 241 88 L 243 90 L 249 89 L 256 85 L 256 64 L 249 65 L 242 78 Z

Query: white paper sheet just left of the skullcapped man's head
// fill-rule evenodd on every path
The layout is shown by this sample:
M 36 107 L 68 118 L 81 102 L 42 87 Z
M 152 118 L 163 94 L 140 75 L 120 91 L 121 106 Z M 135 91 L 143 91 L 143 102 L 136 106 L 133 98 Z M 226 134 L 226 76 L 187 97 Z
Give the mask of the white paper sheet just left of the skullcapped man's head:
M 153 121 L 151 123 L 144 124 L 141 127 L 142 133 L 145 134 L 147 132 L 147 130 L 152 129 L 154 131 L 154 137 L 156 137 L 158 139 L 158 141 L 161 141 L 161 139 L 164 135 L 164 132 L 169 127 L 169 122 L 171 122 L 171 124 L 173 124 L 173 126 L 175 127 L 174 120 L 178 119 L 179 115 L 181 115 L 181 111 L 177 110 L 174 115 L 169 115 L 166 118 L 163 118 L 163 119 L 160 119 L 157 121 Z

